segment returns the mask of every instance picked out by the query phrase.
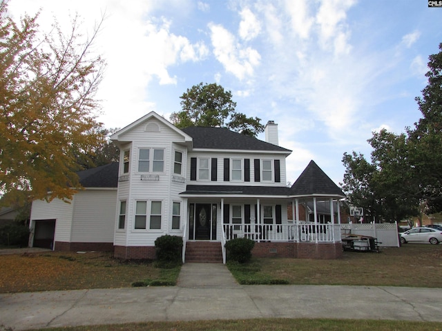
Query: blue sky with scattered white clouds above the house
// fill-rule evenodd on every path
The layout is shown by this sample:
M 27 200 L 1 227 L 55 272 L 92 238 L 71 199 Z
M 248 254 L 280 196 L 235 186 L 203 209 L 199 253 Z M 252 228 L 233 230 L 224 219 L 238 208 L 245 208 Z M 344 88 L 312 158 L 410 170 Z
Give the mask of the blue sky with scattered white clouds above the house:
M 278 123 L 291 183 L 311 159 L 340 183 L 344 152 L 369 158 L 373 131 L 413 126 L 442 42 L 442 8 L 425 0 L 9 1 L 15 17 L 40 8 L 45 31 L 56 17 L 68 32 L 77 12 L 87 34 L 106 17 L 95 43 L 106 128 L 151 110 L 169 119 L 187 88 L 215 82 L 238 112 Z

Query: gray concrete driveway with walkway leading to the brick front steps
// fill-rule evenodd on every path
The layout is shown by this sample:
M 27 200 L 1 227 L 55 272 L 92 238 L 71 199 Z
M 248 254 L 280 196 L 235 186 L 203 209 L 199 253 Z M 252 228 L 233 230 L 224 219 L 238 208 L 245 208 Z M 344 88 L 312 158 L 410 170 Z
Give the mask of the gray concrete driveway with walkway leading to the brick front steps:
M 442 288 L 238 285 L 222 264 L 186 263 L 177 286 L 0 294 L 0 330 L 253 318 L 441 321 Z

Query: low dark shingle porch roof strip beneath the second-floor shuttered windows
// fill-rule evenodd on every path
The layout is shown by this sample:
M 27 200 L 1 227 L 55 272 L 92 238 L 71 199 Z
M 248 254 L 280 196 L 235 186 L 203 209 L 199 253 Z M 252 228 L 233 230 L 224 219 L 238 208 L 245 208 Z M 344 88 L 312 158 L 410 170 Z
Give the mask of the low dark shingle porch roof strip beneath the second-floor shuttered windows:
M 195 195 L 281 195 L 287 196 L 289 188 L 271 186 L 242 186 L 242 185 L 187 185 L 186 191 L 182 194 Z

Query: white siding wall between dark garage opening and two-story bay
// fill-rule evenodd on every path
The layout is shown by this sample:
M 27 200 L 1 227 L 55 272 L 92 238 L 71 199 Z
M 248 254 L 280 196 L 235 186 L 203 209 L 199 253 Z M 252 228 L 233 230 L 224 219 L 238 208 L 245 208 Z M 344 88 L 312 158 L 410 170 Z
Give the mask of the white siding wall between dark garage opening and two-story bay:
M 117 190 L 84 190 L 75 194 L 71 241 L 113 243 Z

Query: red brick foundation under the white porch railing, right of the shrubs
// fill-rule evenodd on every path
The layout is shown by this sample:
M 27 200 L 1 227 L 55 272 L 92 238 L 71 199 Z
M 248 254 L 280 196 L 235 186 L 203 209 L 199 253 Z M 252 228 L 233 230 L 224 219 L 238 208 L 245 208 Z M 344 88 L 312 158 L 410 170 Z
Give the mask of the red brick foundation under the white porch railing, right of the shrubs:
M 291 259 L 338 259 L 343 256 L 341 243 L 255 243 L 253 257 Z

